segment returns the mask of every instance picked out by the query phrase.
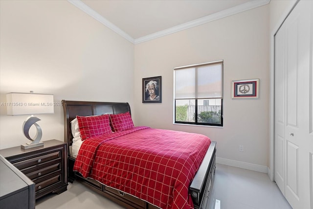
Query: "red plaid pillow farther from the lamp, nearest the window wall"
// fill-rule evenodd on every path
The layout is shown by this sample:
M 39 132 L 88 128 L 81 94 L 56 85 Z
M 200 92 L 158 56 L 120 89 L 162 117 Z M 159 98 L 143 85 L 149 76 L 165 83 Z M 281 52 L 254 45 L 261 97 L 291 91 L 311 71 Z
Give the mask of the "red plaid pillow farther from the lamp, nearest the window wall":
M 134 128 L 132 116 L 129 112 L 110 115 L 112 131 L 124 131 L 126 129 Z

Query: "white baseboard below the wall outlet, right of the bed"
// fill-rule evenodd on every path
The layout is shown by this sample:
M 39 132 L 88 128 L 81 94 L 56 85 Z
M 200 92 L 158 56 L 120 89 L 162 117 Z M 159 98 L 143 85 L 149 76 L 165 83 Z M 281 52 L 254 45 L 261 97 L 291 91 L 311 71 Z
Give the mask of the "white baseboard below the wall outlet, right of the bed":
M 247 170 L 258 171 L 261 173 L 268 173 L 268 166 L 264 166 L 264 165 L 246 163 L 246 162 L 241 162 L 241 161 L 234 161 L 234 160 L 229 160 L 229 159 L 219 158 L 219 157 L 216 157 L 216 163 L 230 165 L 233 167 L 244 168 Z

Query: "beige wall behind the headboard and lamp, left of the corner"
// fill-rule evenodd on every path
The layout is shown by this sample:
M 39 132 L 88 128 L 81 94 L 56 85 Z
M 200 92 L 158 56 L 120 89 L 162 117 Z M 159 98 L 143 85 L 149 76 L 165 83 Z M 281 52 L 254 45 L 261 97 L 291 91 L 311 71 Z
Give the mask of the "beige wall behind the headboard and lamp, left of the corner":
M 134 45 L 66 0 L 0 1 L 0 101 L 6 93 L 51 93 L 54 101 L 129 102 Z M 133 108 L 134 113 L 134 108 Z M 0 106 L 0 148 L 19 146 L 27 116 Z M 64 139 L 62 106 L 39 115 L 43 140 Z

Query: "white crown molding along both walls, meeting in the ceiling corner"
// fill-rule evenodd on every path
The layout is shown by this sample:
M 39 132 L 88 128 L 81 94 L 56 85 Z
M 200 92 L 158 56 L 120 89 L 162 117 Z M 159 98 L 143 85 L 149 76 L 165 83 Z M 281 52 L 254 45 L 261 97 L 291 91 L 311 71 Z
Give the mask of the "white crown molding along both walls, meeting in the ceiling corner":
M 199 18 L 194 21 L 190 21 L 187 23 L 183 23 L 165 30 L 161 30 L 159 32 L 143 36 L 137 39 L 132 38 L 130 35 L 128 35 L 126 32 L 121 30 L 119 27 L 117 27 L 115 24 L 111 23 L 107 19 L 105 19 L 103 16 L 101 16 L 99 13 L 91 9 L 89 6 L 87 6 L 85 3 L 83 3 L 81 0 L 67 0 L 71 4 L 75 5 L 82 11 L 86 12 L 88 15 L 90 15 L 92 18 L 95 20 L 99 21 L 100 23 L 104 24 L 105 26 L 109 27 L 112 29 L 114 32 L 128 40 L 129 42 L 133 44 L 140 44 L 146 41 L 150 41 L 156 38 L 160 38 L 162 36 L 166 36 L 172 33 L 176 33 L 191 27 L 195 27 L 204 23 L 209 23 L 218 19 L 222 19 L 225 17 L 228 17 L 230 15 L 238 14 L 240 12 L 244 12 L 259 6 L 263 6 L 265 4 L 268 4 L 270 0 L 251 0 L 246 3 L 240 4 L 238 6 L 223 10 L 221 12 L 214 13 L 212 15 L 205 16 L 203 18 Z

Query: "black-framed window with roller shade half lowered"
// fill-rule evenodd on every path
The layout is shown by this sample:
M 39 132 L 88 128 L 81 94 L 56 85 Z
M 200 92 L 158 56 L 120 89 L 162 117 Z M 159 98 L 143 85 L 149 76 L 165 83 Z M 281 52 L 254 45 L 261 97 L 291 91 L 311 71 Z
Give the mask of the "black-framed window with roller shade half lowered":
M 223 126 L 223 61 L 174 68 L 175 123 Z

